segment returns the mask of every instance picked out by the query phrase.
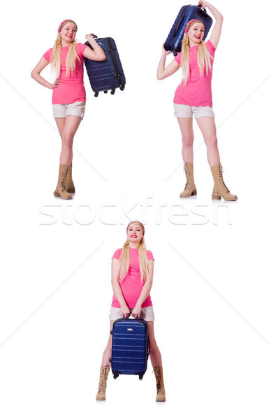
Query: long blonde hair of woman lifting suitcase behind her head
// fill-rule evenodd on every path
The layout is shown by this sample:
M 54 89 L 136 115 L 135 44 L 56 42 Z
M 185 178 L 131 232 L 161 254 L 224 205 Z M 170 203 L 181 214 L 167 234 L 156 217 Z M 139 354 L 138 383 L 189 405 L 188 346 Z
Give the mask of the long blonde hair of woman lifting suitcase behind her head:
M 186 86 L 189 79 L 189 57 L 190 57 L 190 48 L 189 48 L 189 36 L 184 33 L 184 38 L 182 39 L 182 83 Z M 208 70 L 212 71 L 210 52 L 207 50 L 207 47 L 203 41 L 200 41 L 198 45 L 198 67 L 200 69 L 200 76 L 203 76 L 206 69 L 206 74 Z

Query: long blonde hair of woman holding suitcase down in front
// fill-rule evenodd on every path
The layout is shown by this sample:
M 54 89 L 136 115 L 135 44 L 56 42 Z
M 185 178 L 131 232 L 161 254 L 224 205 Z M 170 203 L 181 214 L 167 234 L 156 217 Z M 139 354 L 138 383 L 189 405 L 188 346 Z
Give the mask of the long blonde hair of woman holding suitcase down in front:
M 140 281 L 145 282 L 147 273 L 149 272 L 149 260 L 147 258 L 147 248 L 145 245 L 144 236 L 142 236 L 138 247 L 138 258 L 140 267 Z M 130 267 L 130 246 L 127 239 L 124 246 L 122 246 L 122 253 L 119 257 L 119 282 L 121 282 L 126 274 L 129 272 Z

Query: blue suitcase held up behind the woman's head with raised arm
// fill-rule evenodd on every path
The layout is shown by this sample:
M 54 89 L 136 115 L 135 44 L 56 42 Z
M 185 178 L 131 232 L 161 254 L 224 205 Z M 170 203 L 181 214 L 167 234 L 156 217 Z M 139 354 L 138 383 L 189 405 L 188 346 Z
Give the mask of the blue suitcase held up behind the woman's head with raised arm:
M 171 28 L 168 38 L 164 48 L 166 51 L 173 52 L 174 55 L 177 55 L 182 50 L 182 38 L 184 37 L 184 29 L 189 22 L 189 20 L 198 19 L 203 22 L 205 25 L 205 33 L 203 41 L 212 27 L 212 18 L 206 13 L 205 9 L 200 8 L 200 6 L 182 6 L 177 18 Z

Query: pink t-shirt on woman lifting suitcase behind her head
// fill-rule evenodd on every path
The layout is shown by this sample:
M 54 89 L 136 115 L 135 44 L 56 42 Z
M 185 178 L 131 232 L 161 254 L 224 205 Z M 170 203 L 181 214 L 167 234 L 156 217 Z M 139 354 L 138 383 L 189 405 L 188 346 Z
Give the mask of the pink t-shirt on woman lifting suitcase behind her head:
M 215 48 L 211 41 L 205 43 L 207 50 L 214 57 Z M 204 70 L 203 76 L 200 76 L 198 67 L 198 45 L 190 48 L 189 58 L 189 79 L 187 85 L 181 82 L 175 91 L 173 102 L 175 104 L 184 104 L 189 106 L 212 106 L 212 70 Z M 178 64 L 181 63 L 182 52 L 175 57 Z M 211 58 L 211 66 L 214 59 Z

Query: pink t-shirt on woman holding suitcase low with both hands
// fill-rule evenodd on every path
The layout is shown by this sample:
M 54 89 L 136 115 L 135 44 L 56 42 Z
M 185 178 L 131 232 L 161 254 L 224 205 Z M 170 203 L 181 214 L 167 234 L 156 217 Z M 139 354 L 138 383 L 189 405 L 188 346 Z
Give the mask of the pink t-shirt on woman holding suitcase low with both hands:
M 117 249 L 112 258 L 117 258 L 117 260 L 119 260 L 121 253 L 122 248 Z M 148 260 L 154 260 L 151 251 L 147 251 L 147 258 Z M 119 283 L 119 286 L 122 289 L 122 294 L 124 296 L 127 306 L 129 308 L 134 308 L 136 306 L 136 302 L 138 301 L 138 297 L 140 296 L 142 287 L 144 286 L 144 282 L 140 281 L 138 249 L 130 248 L 129 271 L 126 277 L 124 277 L 124 279 Z M 117 300 L 117 297 L 115 297 L 115 295 L 113 295 L 111 306 L 114 308 L 120 308 L 119 301 Z M 142 308 L 149 306 L 152 306 L 152 300 L 150 295 L 147 297 L 145 302 L 143 302 Z

